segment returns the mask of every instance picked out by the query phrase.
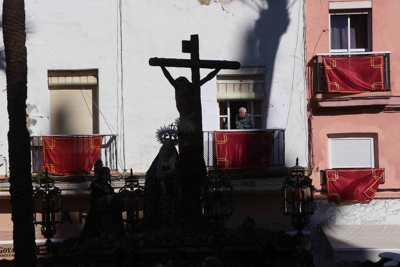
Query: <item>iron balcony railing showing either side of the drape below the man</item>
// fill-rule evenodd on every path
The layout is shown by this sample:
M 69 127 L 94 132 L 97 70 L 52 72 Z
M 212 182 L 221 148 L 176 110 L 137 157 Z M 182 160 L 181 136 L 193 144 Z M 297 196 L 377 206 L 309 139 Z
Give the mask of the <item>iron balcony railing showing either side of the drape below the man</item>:
M 274 132 L 274 143 L 271 149 L 270 165 L 285 165 L 285 130 L 284 129 L 259 129 Z M 206 166 L 215 164 L 214 134 L 213 131 L 203 131 L 204 161 Z

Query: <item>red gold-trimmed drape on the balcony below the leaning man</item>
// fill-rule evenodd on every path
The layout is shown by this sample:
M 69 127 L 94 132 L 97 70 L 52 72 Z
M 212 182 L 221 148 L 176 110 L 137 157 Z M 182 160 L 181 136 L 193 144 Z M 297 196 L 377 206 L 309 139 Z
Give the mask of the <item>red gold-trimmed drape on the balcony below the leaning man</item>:
M 217 165 L 224 169 L 269 169 L 273 131 L 214 131 Z

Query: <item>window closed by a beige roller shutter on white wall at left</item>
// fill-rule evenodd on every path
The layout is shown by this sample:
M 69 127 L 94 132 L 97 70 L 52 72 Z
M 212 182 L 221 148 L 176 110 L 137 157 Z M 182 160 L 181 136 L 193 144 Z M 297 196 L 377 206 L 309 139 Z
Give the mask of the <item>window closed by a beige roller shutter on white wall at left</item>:
M 96 70 L 48 71 L 51 135 L 98 133 Z

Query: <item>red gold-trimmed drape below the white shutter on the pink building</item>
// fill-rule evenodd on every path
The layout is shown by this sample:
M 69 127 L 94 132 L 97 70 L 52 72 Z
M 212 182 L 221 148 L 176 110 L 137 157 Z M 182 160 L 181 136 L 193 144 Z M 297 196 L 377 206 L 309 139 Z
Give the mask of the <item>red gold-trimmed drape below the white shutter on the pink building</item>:
M 329 202 L 371 201 L 385 169 L 326 169 Z

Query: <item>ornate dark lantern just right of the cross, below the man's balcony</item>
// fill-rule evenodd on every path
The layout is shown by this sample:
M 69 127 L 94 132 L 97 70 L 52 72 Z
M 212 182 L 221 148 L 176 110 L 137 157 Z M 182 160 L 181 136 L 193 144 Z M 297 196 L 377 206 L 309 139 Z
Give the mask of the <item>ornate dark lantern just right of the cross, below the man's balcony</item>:
M 224 177 L 222 167 L 210 167 L 202 181 L 202 214 L 212 219 L 217 229 L 224 227 L 224 220 L 234 211 L 232 191 L 230 179 Z

